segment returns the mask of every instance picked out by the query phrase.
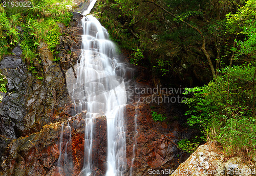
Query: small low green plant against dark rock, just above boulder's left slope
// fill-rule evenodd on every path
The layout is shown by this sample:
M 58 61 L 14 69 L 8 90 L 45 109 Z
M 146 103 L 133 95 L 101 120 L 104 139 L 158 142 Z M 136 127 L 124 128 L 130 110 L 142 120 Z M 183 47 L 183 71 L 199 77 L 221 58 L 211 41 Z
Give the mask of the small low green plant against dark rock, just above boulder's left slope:
M 199 146 L 200 142 L 197 140 L 193 140 L 192 142 L 189 141 L 188 139 L 182 139 L 177 142 L 178 147 L 182 149 L 183 151 L 192 154 L 193 152 L 196 151 L 197 147 Z

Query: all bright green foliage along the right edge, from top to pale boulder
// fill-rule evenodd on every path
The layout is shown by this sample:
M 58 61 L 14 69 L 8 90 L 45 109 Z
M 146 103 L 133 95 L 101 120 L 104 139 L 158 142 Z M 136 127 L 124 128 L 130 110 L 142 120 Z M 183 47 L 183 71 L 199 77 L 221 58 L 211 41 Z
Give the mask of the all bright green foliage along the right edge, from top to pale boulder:
M 200 128 L 209 140 L 220 142 L 228 155 L 248 157 L 256 152 L 255 10 L 255 1 L 249 0 L 236 14 L 227 15 L 227 23 L 211 24 L 208 30 L 215 37 L 225 33 L 237 38 L 231 59 L 238 65 L 230 64 L 219 70 L 214 82 L 185 93 L 192 95 L 186 101 L 188 124 Z

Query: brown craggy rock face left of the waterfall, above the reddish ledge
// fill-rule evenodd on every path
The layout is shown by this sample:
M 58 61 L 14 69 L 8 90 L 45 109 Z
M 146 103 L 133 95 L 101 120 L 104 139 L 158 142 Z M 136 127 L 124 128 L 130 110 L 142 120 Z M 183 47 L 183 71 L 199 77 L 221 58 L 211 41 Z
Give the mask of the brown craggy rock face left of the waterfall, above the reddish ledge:
M 28 88 L 25 94 L 26 101 L 23 103 L 26 113 L 23 115 L 23 128 L 19 128 L 16 137 L 39 132 L 45 124 L 74 115 L 65 73 L 76 64 L 80 56 L 82 28 L 78 25 L 79 21 L 80 18 L 74 18 L 69 28 L 60 26 L 62 33 L 67 34 L 60 36 L 60 44 L 56 48 L 59 52 L 56 57 L 60 58 L 60 62 L 53 61 L 53 54 L 46 43 L 40 43 L 38 46 L 41 65 L 39 63 L 35 65 L 38 69 L 42 68 L 44 80 L 35 79 L 30 72 L 26 75 Z

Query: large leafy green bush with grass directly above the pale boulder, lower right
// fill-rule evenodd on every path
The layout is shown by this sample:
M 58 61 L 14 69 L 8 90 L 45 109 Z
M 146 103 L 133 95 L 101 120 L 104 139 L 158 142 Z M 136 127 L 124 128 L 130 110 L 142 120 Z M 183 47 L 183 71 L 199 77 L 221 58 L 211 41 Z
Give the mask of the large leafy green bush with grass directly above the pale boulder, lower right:
M 254 66 L 233 66 L 222 69 L 215 82 L 187 88 L 190 110 L 188 124 L 205 132 L 210 140 L 220 142 L 227 154 L 243 148 L 255 151 L 256 120 L 253 117 Z

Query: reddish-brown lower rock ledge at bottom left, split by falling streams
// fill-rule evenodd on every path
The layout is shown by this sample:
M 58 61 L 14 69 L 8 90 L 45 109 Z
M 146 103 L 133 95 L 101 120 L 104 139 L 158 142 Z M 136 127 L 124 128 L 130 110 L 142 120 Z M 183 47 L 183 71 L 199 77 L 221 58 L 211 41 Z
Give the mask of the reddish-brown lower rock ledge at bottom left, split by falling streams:
M 40 132 L 13 140 L 4 155 L 0 175 L 79 175 L 84 162 L 85 116 L 86 113 L 82 112 L 69 121 L 71 140 L 68 121 L 63 123 L 62 141 L 61 122 L 50 123 Z M 106 169 L 106 117 L 96 118 L 94 124 L 94 170 L 102 175 Z M 70 166 L 68 169 L 67 163 Z

